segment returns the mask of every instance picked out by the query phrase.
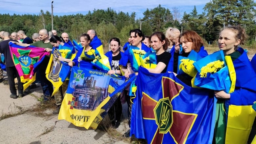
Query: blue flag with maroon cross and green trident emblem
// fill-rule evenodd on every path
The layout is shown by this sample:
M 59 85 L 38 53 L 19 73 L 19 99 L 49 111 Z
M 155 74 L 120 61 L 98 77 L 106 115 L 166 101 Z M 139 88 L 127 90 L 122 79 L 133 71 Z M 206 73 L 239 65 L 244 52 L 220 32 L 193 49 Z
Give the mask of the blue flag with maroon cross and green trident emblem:
M 142 67 L 137 87 L 131 116 L 135 137 L 152 144 L 212 143 L 212 91 L 188 87 L 173 73 L 153 74 Z

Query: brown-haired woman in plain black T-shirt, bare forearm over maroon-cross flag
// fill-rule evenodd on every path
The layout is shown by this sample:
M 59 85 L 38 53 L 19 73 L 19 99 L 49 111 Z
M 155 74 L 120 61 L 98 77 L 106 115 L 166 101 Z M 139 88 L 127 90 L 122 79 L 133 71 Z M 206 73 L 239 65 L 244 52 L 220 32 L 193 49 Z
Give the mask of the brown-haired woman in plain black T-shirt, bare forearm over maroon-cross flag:
M 171 53 L 166 51 L 169 46 L 169 40 L 165 38 L 162 32 L 153 33 L 149 39 L 151 47 L 156 51 L 157 67 L 147 70 L 151 73 L 165 73 L 171 59 Z

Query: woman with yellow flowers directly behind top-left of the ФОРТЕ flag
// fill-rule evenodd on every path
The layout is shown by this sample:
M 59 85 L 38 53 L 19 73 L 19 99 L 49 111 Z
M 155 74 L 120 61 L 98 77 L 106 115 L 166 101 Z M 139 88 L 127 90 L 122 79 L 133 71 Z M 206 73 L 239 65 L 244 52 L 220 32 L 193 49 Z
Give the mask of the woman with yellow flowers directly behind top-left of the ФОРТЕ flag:
M 69 66 L 73 67 L 83 67 L 88 69 L 94 69 L 93 64 L 91 63 L 94 57 L 86 57 L 86 55 L 94 55 L 95 49 L 90 47 L 91 38 L 89 34 L 84 33 L 80 37 L 80 44 L 82 45 L 83 49 L 80 49 L 77 53 L 73 61 L 69 62 Z

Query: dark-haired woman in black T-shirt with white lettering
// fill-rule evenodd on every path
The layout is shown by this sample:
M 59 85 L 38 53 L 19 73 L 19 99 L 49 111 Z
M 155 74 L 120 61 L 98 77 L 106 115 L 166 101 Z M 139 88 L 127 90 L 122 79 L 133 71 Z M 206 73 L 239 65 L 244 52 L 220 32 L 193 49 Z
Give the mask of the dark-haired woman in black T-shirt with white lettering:
M 123 52 L 120 51 L 120 40 L 118 38 L 110 39 L 110 48 L 111 51 L 105 53 L 109 59 L 111 70 L 108 71 L 108 74 L 118 74 L 121 75 L 119 68 L 119 60 L 123 56 Z M 122 103 L 120 100 L 120 95 L 117 97 L 117 100 L 113 106 L 108 111 L 110 121 L 112 125 L 117 128 L 120 125 L 120 118 L 122 115 Z M 116 118 L 115 118 L 116 117 Z

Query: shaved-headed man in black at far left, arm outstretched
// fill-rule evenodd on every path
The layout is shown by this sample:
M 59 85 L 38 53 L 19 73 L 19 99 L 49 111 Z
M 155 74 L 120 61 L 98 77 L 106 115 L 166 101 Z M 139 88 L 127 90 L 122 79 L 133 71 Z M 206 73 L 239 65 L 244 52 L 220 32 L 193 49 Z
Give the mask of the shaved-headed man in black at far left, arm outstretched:
M 15 88 L 15 82 L 14 82 L 15 76 L 17 76 L 17 79 L 18 79 L 19 97 L 23 96 L 23 83 L 21 83 L 19 73 L 16 70 L 15 65 L 12 61 L 9 42 L 10 41 L 14 41 L 16 43 L 19 43 L 19 42 L 16 40 L 11 40 L 9 32 L 4 32 L 3 37 L 4 37 L 4 40 L 0 43 L 0 53 L 3 53 L 5 56 L 5 66 L 6 66 L 7 76 L 8 76 L 9 89 L 11 92 L 10 97 L 15 99 L 17 98 L 17 91 Z

